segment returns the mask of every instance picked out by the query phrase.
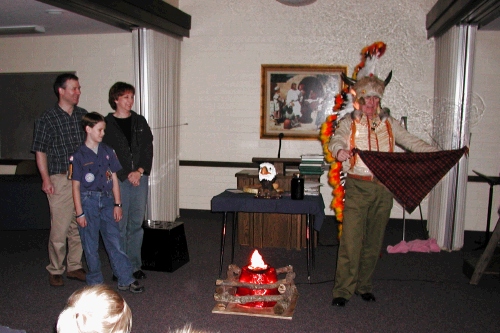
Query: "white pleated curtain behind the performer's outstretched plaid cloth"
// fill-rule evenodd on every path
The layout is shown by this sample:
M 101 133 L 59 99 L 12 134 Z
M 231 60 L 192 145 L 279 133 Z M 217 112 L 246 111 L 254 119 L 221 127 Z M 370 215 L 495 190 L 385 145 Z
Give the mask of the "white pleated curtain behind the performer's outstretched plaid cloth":
M 433 139 L 440 149 L 469 145 L 475 26 L 454 26 L 435 39 Z M 462 158 L 429 196 L 429 235 L 446 250 L 463 246 L 468 160 Z

